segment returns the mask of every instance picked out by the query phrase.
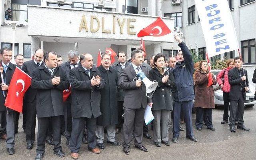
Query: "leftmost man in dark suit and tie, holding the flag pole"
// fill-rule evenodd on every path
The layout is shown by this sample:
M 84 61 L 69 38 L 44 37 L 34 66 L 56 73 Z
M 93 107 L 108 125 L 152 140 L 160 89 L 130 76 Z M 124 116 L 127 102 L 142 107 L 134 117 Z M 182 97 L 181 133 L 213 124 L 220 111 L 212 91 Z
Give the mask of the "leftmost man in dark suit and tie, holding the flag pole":
M 12 50 L 10 48 L 1 49 L 0 59 L 2 61 L 0 63 L 0 72 L 3 73 L 3 79 L 1 80 L 1 89 L 0 89 L 0 120 L 3 115 L 6 117 L 6 148 L 8 154 L 14 154 L 14 111 L 12 109 L 6 108 L 4 106 L 5 98 L 7 96 L 7 92 L 9 89 L 9 84 L 12 79 L 12 75 L 16 68 L 16 65 L 12 64 L 10 60 L 12 59 Z

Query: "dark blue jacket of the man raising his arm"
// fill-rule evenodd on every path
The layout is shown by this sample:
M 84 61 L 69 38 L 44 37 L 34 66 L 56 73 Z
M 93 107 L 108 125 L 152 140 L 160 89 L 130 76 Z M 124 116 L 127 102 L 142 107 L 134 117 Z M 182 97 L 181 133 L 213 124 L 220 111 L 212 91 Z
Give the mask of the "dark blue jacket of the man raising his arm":
M 173 75 L 176 85 L 174 101 L 191 101 L 195 98 L 193 88 L 194 63 L 192 55 L 184 42 L 179 44 L 183 53 L 184 61 L 176 63 Z

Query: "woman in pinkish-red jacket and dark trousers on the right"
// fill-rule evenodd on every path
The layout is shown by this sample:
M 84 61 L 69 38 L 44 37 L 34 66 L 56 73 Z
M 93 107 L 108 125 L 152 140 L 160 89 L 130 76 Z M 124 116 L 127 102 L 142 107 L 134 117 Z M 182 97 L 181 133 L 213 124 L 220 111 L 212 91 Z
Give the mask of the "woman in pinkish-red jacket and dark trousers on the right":
M 222 69 L 220 73 L 217 75 L 216 79 L 218 85 L 222 89 L 223 92 L 223 101 L 224 101 L 224 113 L 223 120 L 221 124 L 228 123 L 228 108 L 229 108 L 229 92 L 230 92 L 230 84 L 228 83 L 228 71 L 235 67 L 234 59 L 228 59 L 226 63 L 226 68 Z

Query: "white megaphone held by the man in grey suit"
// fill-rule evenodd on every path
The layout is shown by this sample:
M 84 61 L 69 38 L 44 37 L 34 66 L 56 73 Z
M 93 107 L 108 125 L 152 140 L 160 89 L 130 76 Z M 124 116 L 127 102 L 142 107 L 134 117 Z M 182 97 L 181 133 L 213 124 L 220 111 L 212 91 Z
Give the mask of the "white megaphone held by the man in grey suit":
M 138 71 L 136 77 L 137 77 L 138 79 L 141 79 L 141 80 L 142 80 L 142 82 L 143 82 L 144 85 L 146 86 L 146 96 L 149 97 L 149 98 L 151 98 L 152 95 L 154 94 L 154 92 L 156 91 L 156 87 L 158 86 L 158 82 L 157 82 L 157 81 L 153 81 L 153 82 L 150 81 L 150 80 L 146 77 L 145 73 L 144 73 L 142 70 Z M 153 92 L 153 93 L 152 93 L 152 92 Z M 148 96 L 147 93 L 152 93 L 152 95 Z

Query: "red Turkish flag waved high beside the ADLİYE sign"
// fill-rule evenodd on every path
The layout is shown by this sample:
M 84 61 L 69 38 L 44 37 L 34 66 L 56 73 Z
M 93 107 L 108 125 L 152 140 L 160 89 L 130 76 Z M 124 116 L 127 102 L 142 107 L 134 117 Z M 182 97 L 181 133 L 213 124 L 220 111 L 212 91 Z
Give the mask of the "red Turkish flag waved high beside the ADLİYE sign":
M 160 37 L 169 33 L 171 33 L 171 30 L 168 28 L 168 26 L 166 26 L 162 18 L 158 17 L 155 22 L 153 22 L 143 30 L 140 30 L 137 36 L 138 37 L 144 37 L 144 36 Z

